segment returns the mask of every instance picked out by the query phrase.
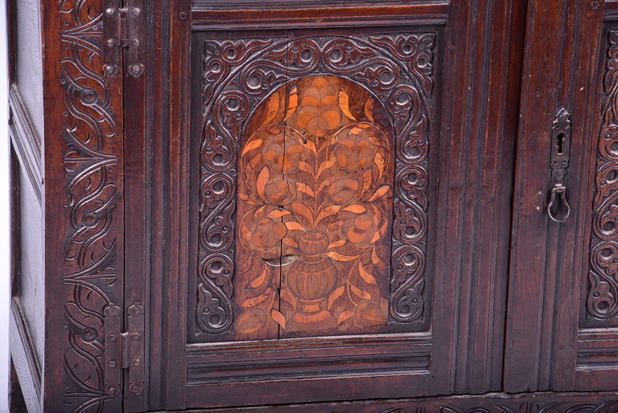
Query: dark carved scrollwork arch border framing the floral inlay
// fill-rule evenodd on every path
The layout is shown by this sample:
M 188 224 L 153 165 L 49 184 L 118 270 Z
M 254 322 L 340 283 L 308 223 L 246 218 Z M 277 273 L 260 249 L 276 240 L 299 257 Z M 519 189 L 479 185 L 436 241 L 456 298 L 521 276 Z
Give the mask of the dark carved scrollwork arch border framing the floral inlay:
M 196 335 L 225 333 L 233 325 L 236 167 L 244 124 L 277 86 L 317 73 L 361 84 L 387 109 L 396 135 L 391 322 L 423 320 L 435 34 L 206 40 L 203 47 Z

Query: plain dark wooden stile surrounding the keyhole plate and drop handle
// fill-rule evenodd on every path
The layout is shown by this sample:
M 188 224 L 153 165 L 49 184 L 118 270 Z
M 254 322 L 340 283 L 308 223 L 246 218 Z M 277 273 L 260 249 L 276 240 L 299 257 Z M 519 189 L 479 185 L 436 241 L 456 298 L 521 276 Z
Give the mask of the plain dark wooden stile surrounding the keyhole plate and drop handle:
M 602 16 L 602 2 L 531 2 L 528 9 L 527 32 L 534 36 L 527 38 L 523 69 L 521 107 L 527 110 L 522 109 L 518 139 L 505 358 L 505 390 L 511 392 L 576 388 Z M 547 128 L 560 107 L 572 114 L 565 185 L 573 215 L 556 224 L 545 213 L 553 185 L 547 160 L 534 154 L 553 144 Z

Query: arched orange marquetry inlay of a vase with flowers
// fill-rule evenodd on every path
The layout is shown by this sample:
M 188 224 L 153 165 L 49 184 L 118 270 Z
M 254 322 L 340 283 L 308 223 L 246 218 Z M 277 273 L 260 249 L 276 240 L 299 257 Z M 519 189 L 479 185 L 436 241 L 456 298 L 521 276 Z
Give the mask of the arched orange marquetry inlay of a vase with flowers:
M 238 167 L 237 338 L 387 324 L 392 141 L 380 102 L 344 78 L 290 81 L 258 106 Z

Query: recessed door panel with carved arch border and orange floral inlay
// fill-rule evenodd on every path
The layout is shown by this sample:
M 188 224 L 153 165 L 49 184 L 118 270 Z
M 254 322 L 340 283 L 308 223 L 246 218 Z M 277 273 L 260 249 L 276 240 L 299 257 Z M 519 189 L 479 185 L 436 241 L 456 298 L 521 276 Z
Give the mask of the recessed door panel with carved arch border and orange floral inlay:
M 196 341 L 426 331 L 435 44 L 196 34 Z

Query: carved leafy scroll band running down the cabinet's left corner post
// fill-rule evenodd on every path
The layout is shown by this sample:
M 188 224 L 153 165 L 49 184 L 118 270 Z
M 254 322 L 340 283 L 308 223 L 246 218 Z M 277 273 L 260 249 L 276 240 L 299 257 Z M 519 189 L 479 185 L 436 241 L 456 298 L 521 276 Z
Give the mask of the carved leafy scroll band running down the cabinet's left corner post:
M 120 397 L 104 377 L 104 307 L 122 301 L 118 211 L 122 181 L 122 141 L 111 100 L 111 85 L 101 74 L 100 1 L 60 0 L 62 75 L 66 109 L 64 156 L 65 208 L 69 233 L 64 249 L 67 285 L 64 400 L 76 412 L 100 412 Z M 117 105 L 117 106 L 113 106 Z M 104 407 L 107 406 L 107 407 Z

